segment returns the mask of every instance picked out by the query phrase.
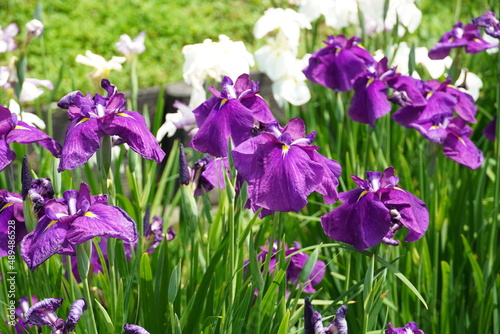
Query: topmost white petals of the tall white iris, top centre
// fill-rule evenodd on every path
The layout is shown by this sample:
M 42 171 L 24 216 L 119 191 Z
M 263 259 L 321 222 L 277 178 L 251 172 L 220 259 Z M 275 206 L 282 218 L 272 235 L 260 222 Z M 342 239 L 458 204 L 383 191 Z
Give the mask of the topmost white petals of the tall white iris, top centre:
M 279 30 L 294 46 L 299 45 L 300 29 L 311 29 L 311 23 L 307 18 L 291 8 L 269 8 L 264 15 L 257 20 L 253 28 L 253 35 L 260 39 L 268 33 Z

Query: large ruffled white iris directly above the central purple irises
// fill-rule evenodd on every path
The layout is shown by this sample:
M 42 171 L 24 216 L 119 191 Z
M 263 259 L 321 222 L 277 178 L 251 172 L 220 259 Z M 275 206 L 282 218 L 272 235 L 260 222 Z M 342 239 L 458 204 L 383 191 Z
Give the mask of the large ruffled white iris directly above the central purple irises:
M 242 73 L 249 73 L 254 65 L 252 54 L 243 42 L 233 42 L 225 35 L 219 35 L 219 42 L 206 39 L 203 43 L 186 45 L 182 48 L 185 57 L 184 80 L 192 87 L 191 108 L 206 100 L 203 84 L 207 78 L 221 81 L 224 76 L 234 80 Z

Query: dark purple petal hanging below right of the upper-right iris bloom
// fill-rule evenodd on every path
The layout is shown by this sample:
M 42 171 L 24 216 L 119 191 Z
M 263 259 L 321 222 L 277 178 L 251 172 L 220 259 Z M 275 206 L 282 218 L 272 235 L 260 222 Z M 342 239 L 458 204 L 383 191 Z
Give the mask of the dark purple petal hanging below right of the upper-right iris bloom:
M 371 80 L 371 79 L 370 79 Z M 387 87 L 383 81 L 371 82 L 368 78 L 358 78 L 354 83 L 354 96 L 347 111 L 356 122 L 375 126 L 375 120 L 391 111 L 387 100 Z

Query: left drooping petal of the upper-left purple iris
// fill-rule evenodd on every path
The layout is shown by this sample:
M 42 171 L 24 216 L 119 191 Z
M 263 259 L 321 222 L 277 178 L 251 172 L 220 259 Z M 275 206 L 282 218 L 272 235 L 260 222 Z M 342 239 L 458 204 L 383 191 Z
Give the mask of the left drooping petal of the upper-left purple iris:
M 58 172 L 85 164 L 100 147 L 97 120 L 75 118 L 68 125 Z

